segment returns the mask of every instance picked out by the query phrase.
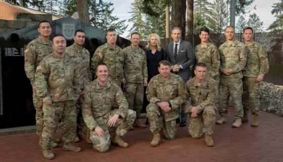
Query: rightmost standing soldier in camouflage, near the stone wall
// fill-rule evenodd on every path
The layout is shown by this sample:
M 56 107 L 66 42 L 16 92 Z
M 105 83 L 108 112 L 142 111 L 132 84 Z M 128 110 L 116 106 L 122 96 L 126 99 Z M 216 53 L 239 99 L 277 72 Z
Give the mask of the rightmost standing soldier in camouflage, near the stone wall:
M 259 82 L 263 80 L 264 75 L 269 70 L 267 54 L 263 46 L 254 42 L 253 28 L 244 29 L 245 46 L 247 48 L 247 64 L 243 70 L 243 96 L 242 102 L 244 107 L 244 117 L 242 122 L 248 122 L 248 112 L 251 108 L 254 115 L 253 127 L 259 125 Z

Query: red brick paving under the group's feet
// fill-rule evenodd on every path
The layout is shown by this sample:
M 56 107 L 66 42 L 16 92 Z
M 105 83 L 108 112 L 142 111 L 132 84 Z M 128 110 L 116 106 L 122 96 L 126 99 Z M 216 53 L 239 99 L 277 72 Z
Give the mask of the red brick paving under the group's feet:
M 212 135 L 215 146 L 205 145 L 204 137 L 193 139 L 187 128 L 178 129 L 176 139 L 166 140 L 162 135 L 161 144 L 151 147 L 153 138 L 149 130 L 129 131 L 123 139 L 129 148 L 111 146 L 108 152 L 100 153 L 92 149 L 84 140 L 76 143 L 81 152 L 66 152 L 53 149 L 53 161 L 283 161 L 283 118 L 276 114 L 261 112 L 259 127 L 244 123 L 240 128 L 232 128 L 233 110 L 229 109 L 227 124 L 215 125 Z M 217 116 L 219 118 L 219 116 Z M 144 120 L 143 120 L 144 122 Z M 56 137 L 60 137 L 58 130 Z M 0 161 L 50 161 L 42 156 L 35 133 L 0 136 Z

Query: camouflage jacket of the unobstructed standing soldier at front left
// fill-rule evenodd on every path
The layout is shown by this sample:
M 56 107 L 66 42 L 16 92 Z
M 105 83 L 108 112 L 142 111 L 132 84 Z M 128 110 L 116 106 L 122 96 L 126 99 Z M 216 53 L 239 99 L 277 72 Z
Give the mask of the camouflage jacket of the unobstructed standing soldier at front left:
M 81 93 L 79 73 L 69 56 L 65 55 L 64 63 L 55 53 L 46 56 L 36 68 L 36 95 L 42 97 L 43 102 L 78 98 Z

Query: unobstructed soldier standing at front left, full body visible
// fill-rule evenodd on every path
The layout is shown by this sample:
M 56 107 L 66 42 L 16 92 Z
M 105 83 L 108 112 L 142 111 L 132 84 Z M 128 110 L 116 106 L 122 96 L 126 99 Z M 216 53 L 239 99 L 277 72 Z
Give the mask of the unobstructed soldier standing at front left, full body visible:
M 76 135 L 76 107 L 81 93 L 78 75 L 81 71 L 75 68 L 74 62 L 65 55 L 66 39 L 63 35 L 53 38 L 53 50 L 36 67 L 36 94 L 43 101 L 43 120 L 41 147 L 43 156 L 55 158 L 51 148 L 57 124 L 62 120 L 63 150 L 79 152 L 81 149 L 72 143 Z

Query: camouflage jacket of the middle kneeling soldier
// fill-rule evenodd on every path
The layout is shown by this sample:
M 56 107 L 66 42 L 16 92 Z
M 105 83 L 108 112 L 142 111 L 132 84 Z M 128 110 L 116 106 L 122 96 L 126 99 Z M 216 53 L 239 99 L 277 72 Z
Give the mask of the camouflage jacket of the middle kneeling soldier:
M 165 115 L 166 121 L 175 119 L 179 116 L 178 107 L 187 98 L 187 92 L 183 79 L 173 73 L 170 73 L 170 78 L 164 80 L 160 74 L 155 75 L 148 85 L 147 99 L 150 103 L 170 101 L 172 110 L 169 112 L 162 112 Z

